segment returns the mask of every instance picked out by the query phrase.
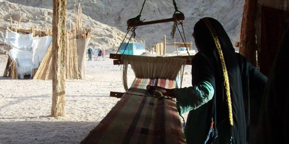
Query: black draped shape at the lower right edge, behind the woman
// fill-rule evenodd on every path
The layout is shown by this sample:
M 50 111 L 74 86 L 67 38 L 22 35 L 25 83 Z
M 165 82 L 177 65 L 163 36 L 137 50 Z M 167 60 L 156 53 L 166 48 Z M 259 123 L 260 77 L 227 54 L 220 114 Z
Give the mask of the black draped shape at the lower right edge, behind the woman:
M 257 143 L 289 143 L 289 30 L 283 38 L 269 75 L 261 116 Z

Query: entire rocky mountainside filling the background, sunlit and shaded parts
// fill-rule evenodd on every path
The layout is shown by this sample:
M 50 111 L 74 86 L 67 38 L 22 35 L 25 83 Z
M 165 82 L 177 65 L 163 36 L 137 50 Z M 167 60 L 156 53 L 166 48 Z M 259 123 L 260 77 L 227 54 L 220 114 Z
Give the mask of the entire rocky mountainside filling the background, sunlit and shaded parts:
M 9 3 L 10 1 L 11 3 Z M 42 23 L 47 17 L 47 23 L 51 25 L 52 2 L 47 0 L 8 0 L 0 3 L 8 4 L 9 8 L 0 8 L 1 12 L 9 15 L 16 12 L 19 8 L 21 11 L 27 11 L 26 17 L 32 22 L 30 24 Z M 21 5 L 17 5 L 17 4 Z M 233 45 L 240 39 L 240 25 L 242 21 L 242 11 L 244 1 L 239 0 L 178 0 L 176 1 L 178 10 L 185 14 L 184 29 L 188 41 L 193 41 L 191 36 L 194 24 L 203 17 L 216 18 L 223 24 Z M 96 34 L 105 38 L 95 40 L 100 45 L 108 44 L 109 47 L 119 45 L 126 32 L 126 22 L 129 18 L 136 17 L 140 13 L 143 1 L 136 0 L 68 0 L 68 15 L 71 15 L 73 7 L 81 5 L 83 12 L 84 26 L 92 26 Z M 26 5 L 26 6 L 24 6 Z M 29 7 L 27 7 L 29 6 Z M 31 7 L 30 7 L 31 6 Z M 17 9 L 18 8 L 18 9 Z M 9 10 L 9 12 L 5 12 Z M 30 11 L 29 11 L 30 10 Z M 33 11 L 33 12 L 32 12 Z M 35 14 L 35 11 L 39 12 Z M 30 13 L 32 12 L 32 13 Z M 142 10 L 141 20 L 151 21 L 164 18 L 171 18 L 175 12 L 171 0 L 147 0 Z M 7 17 L 0 14 L 0 19 Z M 45 16 L 47 15 L 47 16 Z M 10 18 L 10 16 L 9 16 Z M 72 18 L 72 15 L 71 15 Z M 15 16 L 17 20 L 17 16 Z M 25 21 L 25 19 L 23 20 Z M 100 23 L 101 22 L 101 23 Z M 2 23 L 2 22 L 1 22 Z M 29 22 L 28 22 L 29 23 Z M 23 23 L 22 23 L 23 24 Z M 21 25 L 22 25 L 21 24 Z M 163 35 L 167 36 L 167 42 L 173 42 L 170 37 L 173 22 L 139 26 L 136 30 L 136 38 L 144 38 L 147 45 L 153 45 L 162 42 Z M 121 31 L 118 31 L 121 30 Z M 181 37 L 177 31 L 176 40 Z

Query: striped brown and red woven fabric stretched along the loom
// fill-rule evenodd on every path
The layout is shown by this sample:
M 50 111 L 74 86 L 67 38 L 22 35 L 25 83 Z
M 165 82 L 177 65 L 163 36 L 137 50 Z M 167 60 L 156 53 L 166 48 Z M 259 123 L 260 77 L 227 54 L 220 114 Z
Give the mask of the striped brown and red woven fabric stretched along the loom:
M 186 143 L 176 102 L 151 97 L 145 84 L 175 86 L 166 79 L 136 78 L 108 115 L 81 143 Z

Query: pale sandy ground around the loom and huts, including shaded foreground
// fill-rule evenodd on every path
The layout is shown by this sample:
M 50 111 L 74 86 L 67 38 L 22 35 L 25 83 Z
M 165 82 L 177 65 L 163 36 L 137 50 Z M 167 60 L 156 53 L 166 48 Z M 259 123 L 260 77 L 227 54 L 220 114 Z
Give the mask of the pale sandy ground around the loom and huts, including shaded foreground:
M 0 75 L 5 68 L 1 60 Z M 124 92 L 121 67 L 111 59 L 87 61 L 86 80 L 66 80 L 65 117 L 51 117 L 51 80 L 11 80 L 0 77 L 0 144 L 79 143 L 119 100 L 110 91 Z M 190 72 L 190 66 L 186 66 Z M 134 79 L 128 71 L 128 84 Z M 191 85 L 184 75 L 183 86 Z M 187 113 L 183 114 L 187 117 Z M 182 121 L 182 120 L 181 120 Z

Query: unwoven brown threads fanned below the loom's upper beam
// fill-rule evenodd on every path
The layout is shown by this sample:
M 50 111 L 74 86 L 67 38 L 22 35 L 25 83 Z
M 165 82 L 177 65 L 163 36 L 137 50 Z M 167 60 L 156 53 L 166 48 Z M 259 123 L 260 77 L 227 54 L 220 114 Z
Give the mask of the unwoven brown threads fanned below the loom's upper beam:
M 186 59 L 182 58 L 166 58 L 166 57 L 149 57 L 149 56 L 133 56 L 122 55 L 123 60 L 123 86 L 125 90 L 127 86 L 127 67 L 128 64 L 134 71 L 136 77 L 142 78 L 167 78 L 176 79 L 179 71 L 186 65 Z M 181 76 L 182 81 L 182 76 Z

